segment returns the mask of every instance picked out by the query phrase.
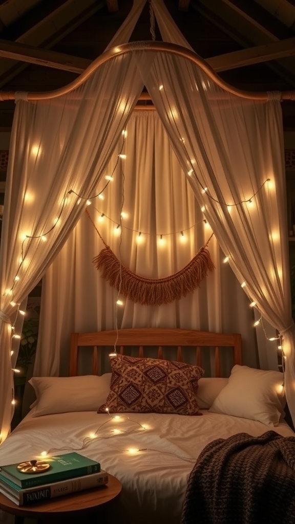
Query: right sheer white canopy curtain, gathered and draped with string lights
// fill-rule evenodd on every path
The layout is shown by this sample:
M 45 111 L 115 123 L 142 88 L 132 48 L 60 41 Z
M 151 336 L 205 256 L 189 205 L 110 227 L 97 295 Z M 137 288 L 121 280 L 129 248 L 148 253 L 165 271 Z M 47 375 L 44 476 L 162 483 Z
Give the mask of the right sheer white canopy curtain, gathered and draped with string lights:
M 167 53 L 153 55 L 143 79 L 230 266 L 261 315 L 283 336 L 286 396 L 294 421 L 280 102 L 230 95 L 194 64 Z M 277 344 L 273 347 L 277 351 Z

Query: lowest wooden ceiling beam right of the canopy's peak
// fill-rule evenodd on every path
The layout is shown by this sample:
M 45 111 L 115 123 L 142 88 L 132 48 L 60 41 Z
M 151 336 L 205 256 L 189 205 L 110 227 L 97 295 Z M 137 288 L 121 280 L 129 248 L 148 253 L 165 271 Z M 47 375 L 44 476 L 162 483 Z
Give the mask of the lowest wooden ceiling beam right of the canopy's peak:
M 267 43 L 263 46 L 220 54 L 217 57 L 208 58 L 206 61 L 218 73 L 219 71 L 228 71 L 229 69 L 290 56 L 295 56 L 295 37 Z

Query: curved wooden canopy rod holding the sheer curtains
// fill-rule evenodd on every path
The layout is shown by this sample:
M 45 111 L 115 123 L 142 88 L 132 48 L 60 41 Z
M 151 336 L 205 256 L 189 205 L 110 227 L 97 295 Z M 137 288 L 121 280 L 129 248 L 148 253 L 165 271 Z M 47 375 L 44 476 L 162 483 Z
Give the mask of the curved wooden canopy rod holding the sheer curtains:
M 188 59 L 189 61 L 198 65 L 210 79 L 212 79 L 215 84 L 219 85 L 220 88 L 232 93 L 236 96 L 239 96 L 243 99 L 248 100 L 268 100 L 269 93 L 267 91 L 244 91 L 239 90 L 231 86 L 230 84 L 224 82 L 215 71 L 210 67 L 210 65 L 200 58 L 194 51 L 187 49 L 182 46 L 178 46 L 176 43 L 168 42 L 156 42 L 156 41 L 140 41 L 140 42 L 128 42 L 123 43 L 120 46 L 112 47 L 107 51 L 104 51 L 96 60 L 94 60 L 89 67 L 82 73 L 80 76 L 70 82 L 68 85 L 63 86 L 62 88 L 56 89 L 54 91 L 47 92 L 30 92 L 27 93 L 27 100 L 50 100 L 58 96 L 65 95 L 71 91 L 78 88 L 83 84 L 90 75 L 96 71 L 100 65 L 108 62 L 112 58 L 119 57 L 123 54 L 134 52 L 134 51 L 159 51 L 166 52 L 171 54 L 176 54 L 177 56 Z M 3 100 L 15 100 L 17 92 L 15 91 L 0 91 L 0 101 Z M 283 91 L 280 93 L 281 100 L 295 100 L 295 90 L 293 91 Z

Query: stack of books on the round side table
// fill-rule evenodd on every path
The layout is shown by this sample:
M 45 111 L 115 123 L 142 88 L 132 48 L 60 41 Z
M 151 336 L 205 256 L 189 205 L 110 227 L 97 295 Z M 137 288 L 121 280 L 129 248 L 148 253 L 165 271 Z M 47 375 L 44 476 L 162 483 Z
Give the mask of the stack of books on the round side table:
M 25 463 L 22 469 L 29 469 L 29 473 L 20 471 L 19 464 L 0 466 L 0 493 L 18 506 L 25 506 L 103 486 L 109 480 L 99 462 L 76 452 L 50 457 L 45 462 L 47 469 L 42 473 L 35 473 L 36 466 L 41 467 L 37 461 Z

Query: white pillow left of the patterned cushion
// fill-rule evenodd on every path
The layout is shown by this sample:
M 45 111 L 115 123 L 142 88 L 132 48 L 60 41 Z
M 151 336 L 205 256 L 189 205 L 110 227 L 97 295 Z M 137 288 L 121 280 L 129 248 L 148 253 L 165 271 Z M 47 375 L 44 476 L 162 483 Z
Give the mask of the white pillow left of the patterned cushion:
M 97 411 L 110 392 L 111 373 L 100 377 L 33 377 L 29 384 L 37 400 L 31 404 L 32 417 L 68 411 Z

